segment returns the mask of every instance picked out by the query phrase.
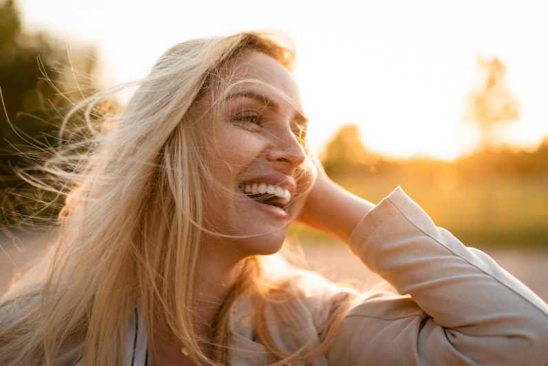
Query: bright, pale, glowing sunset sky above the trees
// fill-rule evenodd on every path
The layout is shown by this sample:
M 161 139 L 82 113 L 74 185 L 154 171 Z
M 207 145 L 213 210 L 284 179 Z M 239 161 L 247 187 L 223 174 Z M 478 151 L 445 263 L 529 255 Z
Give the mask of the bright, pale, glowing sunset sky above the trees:
M 548 2 L 18 0 L 27 30 L 97 48 L 105 85 L 139 78 L 174 43 L 236 30 L 294 39 L 295 77 L 321 147 L 345 123 L 367 148 L 453 159 L 478 141 L 464 121 L 478 57 L 507 65 L 520 119 L 501 141 L 548 135 Z

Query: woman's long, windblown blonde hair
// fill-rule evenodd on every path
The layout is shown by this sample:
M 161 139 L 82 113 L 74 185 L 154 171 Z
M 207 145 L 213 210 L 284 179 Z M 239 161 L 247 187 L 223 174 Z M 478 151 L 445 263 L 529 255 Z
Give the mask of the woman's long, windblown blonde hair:
M 196 39 L 163 54 L 120 114 L 106 122 L 97 117 L 105 93 L 68 114 L 67 120 L 83 109 L 93 136 L 70 154 L 59 152 L 44 167 L 56 177 L 59 194 L 68 192 L 59 217 L 61 235 L 24 285 L 15 286 L 0 303 L 0 361 L 121 365 L 139 304 L 149 337 L 160 325 L 183 341 L 195 363 L 224 364 L 230 352 L 227 309 L 244 291 L 258 301 L 258 339 L 274 362 L 325 352 L 345 305 L 333 312 L 321 345 L 284 354 L 260 309 L 269 301 L 269 289 L 283 292 L 285 287 L 263 278 L 257 258 L 247 260 L 221 305 L 209 345 L 199 341 L 192 326 L 192 290 L 205 227 L 201 187 L 210 179 L 192 106 L 227 61 L 252 50 L 291 68 L 292 48 L 269 34 Z M 94 125 L 97 120 L 103 123 L 100 128 Z M 56 163 L 70 169 L 59 170 Z

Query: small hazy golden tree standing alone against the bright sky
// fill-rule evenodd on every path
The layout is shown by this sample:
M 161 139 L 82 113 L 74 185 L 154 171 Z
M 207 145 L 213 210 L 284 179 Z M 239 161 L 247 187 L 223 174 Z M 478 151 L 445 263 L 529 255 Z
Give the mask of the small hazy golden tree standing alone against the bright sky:
M 497 57 L 478 59 L 483 83 L 469 94 L 467 119 L 480 130 L 480 149 L 498 142 L 496 129 L 520 116 L 520 104 L 505 83 L 506 66 Z

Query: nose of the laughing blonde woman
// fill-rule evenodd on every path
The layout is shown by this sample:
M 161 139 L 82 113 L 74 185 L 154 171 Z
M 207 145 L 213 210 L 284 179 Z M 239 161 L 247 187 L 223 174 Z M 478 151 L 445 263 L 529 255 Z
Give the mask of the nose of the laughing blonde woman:
M 267 161 L 291 169 L 303 164 L 306 156 L 303 144 L 290 128 L 284 129 L 281 134 L 273 135 L 270 148 L 266 152 Z

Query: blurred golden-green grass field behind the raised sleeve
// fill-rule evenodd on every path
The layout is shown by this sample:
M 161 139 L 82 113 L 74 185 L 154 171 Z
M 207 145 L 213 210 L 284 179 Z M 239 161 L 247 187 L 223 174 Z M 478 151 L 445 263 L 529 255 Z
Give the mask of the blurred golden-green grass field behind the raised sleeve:
M 547 161 L 548 164 L 548 161 Z M 330 174 L 373 203 L 400 185 L 432 217 L 472 247 L 548 250 L 548 174 L 465 176 L 454 163 L 405 162 Z M 307 239 L 329 238 L 295 225 Z

